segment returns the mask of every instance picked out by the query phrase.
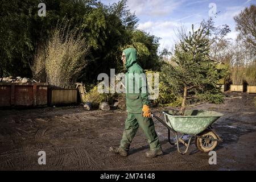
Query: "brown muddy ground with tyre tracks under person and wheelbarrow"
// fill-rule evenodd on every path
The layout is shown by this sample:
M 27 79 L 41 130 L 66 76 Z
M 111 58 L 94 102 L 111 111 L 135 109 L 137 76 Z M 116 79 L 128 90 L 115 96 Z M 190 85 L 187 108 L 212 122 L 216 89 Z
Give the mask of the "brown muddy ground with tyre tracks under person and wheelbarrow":
M 167 140 L 167 129 L 155 122 L 164 155 L 147 159 L 147 140 L 138 130 L 129 156 L 110 154 L 118 146 L 126 112 L 85 111 L 80 106 L 26 110 L 0 110 L 1 170 L 255 170 L 256 94 L 226 93 L 225 104 L 203 104 L 193 109 L 219 111 L 224 117 L 213 124 L 224 140 L 216 147 L 217 165 L 194 144 L 180 155 Z M 231 98 L 230 96 L 235 96 Z M 236 98 L 242 97 L 242 98 Z M 156 115 L 170 108 L 154 109 Z M 160 117 L 163 118 L 163 115 Z M 46 152 L 46 165 L 38 152 Z

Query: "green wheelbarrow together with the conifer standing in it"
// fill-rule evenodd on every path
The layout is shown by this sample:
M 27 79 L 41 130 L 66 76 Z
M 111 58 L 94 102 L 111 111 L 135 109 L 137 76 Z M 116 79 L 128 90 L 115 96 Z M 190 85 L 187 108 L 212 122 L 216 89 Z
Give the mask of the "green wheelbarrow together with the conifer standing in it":
M 192 138 L 200 151 L 209 152 L 222 141 L 211 126 L 222 114 L 185 110 L 185 106 L 200 102 L 221 104 L 224 96 L 218 82 L 225 76 L 225 70 L 218 69 L 216 61 L 210 59 L 209 31 L 203 24 L 197 30 L 192 25 L 192 32 L 180 37 L 171 63 L 164 65 L 161 76 L 162 82 L 172 89 L 175 96 L 182 98 L 180 110 L 163 111 L 165 121 L 154 114 L 153 117 L 167 127 L 169 142 L 177 146 L 180 154 L 188 152 Z M 170 131 L 175 134 L 176 143 L 171 141 Z M 183 139 L 184 135 L 189 135 L 188 143 Z M 186 146 L 185 151 L 180 150 L 179 143 Z

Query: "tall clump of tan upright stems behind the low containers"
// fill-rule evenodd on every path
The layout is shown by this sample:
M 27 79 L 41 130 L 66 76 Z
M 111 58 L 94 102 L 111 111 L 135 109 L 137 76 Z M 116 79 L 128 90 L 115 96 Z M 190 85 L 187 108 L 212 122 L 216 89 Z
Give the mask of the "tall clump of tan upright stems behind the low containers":
M 87 53 L 88 47 L 82 36 L 82 30 L 78 27 L 71 28 L 70 23 L 65 22 L 65 19 L 58 22 L 45 50 L 45 67 L 49 85 L 73 88 L 82 69 L 86 66 Z

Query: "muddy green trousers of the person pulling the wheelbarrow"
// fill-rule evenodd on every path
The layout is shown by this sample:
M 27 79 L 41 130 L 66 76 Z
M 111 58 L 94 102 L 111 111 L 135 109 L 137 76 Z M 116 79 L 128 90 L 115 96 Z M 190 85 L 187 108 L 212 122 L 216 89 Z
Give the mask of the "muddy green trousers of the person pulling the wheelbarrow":
M 125 122 L 125 130 L 123 131 L 123 137 L 121 140 L 120 148 L 128 151 L 131 141 L 133 140 L 137 130 L 141 127 L 146 135 L 147 141 L 151 150 L 157 150 L 161 148 L 158 135 L 155 132 L 155 126 L 152 118 L 144 118 L 142 114 L 128 113 Z

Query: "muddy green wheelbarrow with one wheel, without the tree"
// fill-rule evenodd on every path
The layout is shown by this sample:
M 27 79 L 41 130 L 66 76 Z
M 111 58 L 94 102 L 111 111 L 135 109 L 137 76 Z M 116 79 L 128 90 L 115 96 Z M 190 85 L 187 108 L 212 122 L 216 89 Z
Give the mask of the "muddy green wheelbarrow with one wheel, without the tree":
M 175 115 L 174 111 L 163 111 L 164 121 L 152 114 L 152 117 L 168 129 L 168 142 L 177 146 L 177 151 L 184 155 L 187 154 L 192 138 L 195 138 L 196 147 L 202 152 L 210 152 L 214 150 L 218 142 L 222 139 L 216 131 L 213 130 L 212 124 L 217 121 L 223 114 L 216 111 L 208 110 L 186 110 L 185 115 Z M 175 141 L 171 140 L 171 131 L 175 134 Z M 178 133 L 181 134 L 179 137 Z M 183 137 L 188 135 L 188 143 Z M 180 150 L 179 143 L 184 144 L 185 151 Z

